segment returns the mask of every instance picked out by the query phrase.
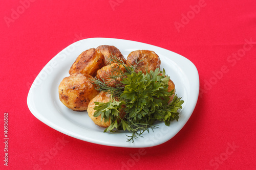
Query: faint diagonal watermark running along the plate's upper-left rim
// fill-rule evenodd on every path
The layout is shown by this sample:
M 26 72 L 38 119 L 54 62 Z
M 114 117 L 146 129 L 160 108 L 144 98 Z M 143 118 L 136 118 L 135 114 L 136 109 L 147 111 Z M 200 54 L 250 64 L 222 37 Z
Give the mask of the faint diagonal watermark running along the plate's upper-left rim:
M 76 43 L 72 43 L 65 50 L 63 50 L 59 55 L 57 55 L 56 56 L 57 58 L 53 59 L 49 65 L 44 67 L 40 71 L 38 76 L 34 75 L 34 77 L 35 77 L 34 83 L 32 84 L 30 82 L 27 82 L 28 89 L 37 88 L 39 85 L 41 85 L 41 83 L 44 80 L 46 80 L 49 75 L 52 74 L 53 70 L 59 66 L 59 63 L 57 62 L 57 60 L 60 59 L 61 62 L 65 61 L 67 59 L 67 56 L 70 55 L 72 52 L 74 52 L 76 50 L 76 47 L 81 44 L 81 42 L 79 42 L 79 40 L 82 40 L 84 38 L 86 38 L 86 37 L 83 37 L 81 33 L 79 35 L 75 34 L 75 38 L 74 38 L 73 42 L 76 42 Z

